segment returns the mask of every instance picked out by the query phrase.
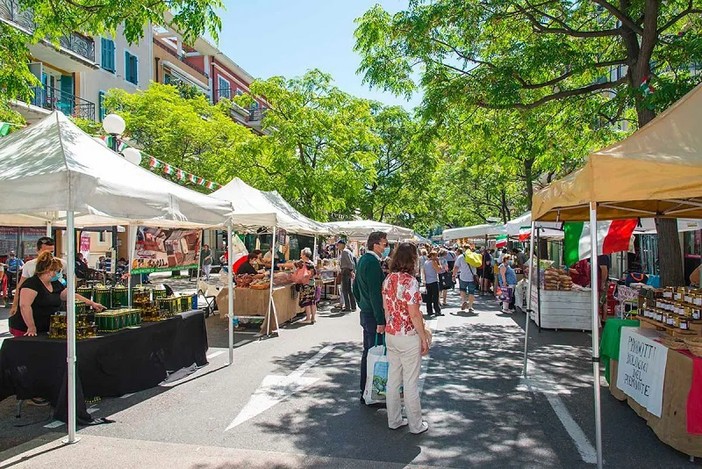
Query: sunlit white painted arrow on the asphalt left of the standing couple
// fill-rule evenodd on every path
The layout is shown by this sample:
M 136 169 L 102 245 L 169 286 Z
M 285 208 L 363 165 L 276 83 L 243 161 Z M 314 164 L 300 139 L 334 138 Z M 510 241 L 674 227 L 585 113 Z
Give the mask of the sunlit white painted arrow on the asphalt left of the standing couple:
M 263 382 L 251 395 L 249 402 L 224 431 L 231 430 L 317 382 L 319 378 L 307 378 L 302 375 L 333 349 L 333 345 L 327 345 L 287 376 L 268 375 L 263 378 Z

